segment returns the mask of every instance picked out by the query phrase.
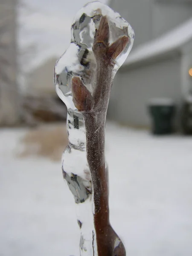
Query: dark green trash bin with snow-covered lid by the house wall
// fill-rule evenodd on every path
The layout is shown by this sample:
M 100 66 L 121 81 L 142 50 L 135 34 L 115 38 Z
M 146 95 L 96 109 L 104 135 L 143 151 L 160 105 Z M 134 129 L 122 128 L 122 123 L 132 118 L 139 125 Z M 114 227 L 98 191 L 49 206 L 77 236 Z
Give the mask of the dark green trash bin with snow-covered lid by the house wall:
M 151 99 L 148 108 L 152 119 L 152 133 L 159 135 L 173 133 L 173 117 L 175 114 L 173 100 Z

